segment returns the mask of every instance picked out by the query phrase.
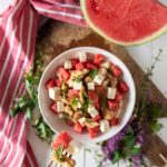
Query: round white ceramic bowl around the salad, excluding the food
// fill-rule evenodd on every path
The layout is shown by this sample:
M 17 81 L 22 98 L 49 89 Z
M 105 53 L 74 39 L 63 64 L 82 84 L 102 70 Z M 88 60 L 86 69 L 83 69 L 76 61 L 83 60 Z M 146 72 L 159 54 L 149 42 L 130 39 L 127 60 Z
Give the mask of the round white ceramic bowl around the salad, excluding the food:
M 66 59 L 71 59 L 71 58 L 77 58 L 77 52 L 78 51 L 85 51 L 88 53 L 88 57 L 90 56 L 89 53 L 102 53 L 109 61 L 118 65 L 122 71 L 124 71 L 124 80 L 127 82 L 129 86 L 129 94 L 126 98 L 126 107 L 124 110 L 124 115 L 120 118 L 120 122 L 116 127 L 111 127 L 108 132 L 100 134 L 98 137 L 90 139 L 88 132 L 85 134 L 77 134 L 72 127 L 68 126 L 65 120 L 58 118 L 57 115 L 55 115 L 50 109 L 49 106 L 52 102 L 52 100 L 49 99 L 48 90 L 45 88 L 45 84 L 47 80 L 51 77 L 55 77 L 56 75 L 56 68 L 58 66 L 63 65 Z M 46 122 L 49 125 L 49 127 L 55 131 L 55 132 L 60 132 L 62 130 L 66 130 L 69 132 L 76 140 L 82 143 L 82 144 L 94 144 L 94 143 L 99 143 L 104 141 L 116 134 L 118 134 L 125 125 L 128 122 L 129 118 L 131 117 L 134 106 L 135 106 L 135 99 L 136 99 L 136 90 L 135 90 L 135 84 L 132 80 L 132 77 L 128 70 L 128 68 L 125 66 L 125 63 L 118 59 L 116 56 L 112 53 L 95 48 L 95 47 L 79 47 L 79 48 L 73 48 L 70 50 L 67 50 L 62 52 L 60 56 L 56 57 L 49 66 L 46 68 L 40 84 L 39 84 L 39 89 L 38 89 L 38 100 L 39 100 L 39 107 L 41 110 L 41 114 L 46 120 Z

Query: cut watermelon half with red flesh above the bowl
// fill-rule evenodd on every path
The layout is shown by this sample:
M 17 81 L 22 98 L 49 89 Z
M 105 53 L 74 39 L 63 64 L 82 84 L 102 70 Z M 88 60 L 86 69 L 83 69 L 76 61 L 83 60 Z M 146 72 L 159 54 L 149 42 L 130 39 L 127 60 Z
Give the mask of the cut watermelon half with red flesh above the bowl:
M 167 8 L 156 0 L 80 0 L 87 23 L 106 39 L 135 46 L 167 31 Z

